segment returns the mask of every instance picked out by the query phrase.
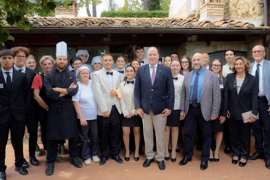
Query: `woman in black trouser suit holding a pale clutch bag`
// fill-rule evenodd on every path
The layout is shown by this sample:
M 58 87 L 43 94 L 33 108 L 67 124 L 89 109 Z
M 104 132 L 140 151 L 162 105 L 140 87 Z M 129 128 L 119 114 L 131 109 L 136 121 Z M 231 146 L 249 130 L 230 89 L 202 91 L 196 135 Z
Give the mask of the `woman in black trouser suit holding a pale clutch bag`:
M 250 63 L 247 58 L 237 56 L 231 66 L 233 73 L 227 75 L 229 108 L 229 132 L 233 151 L 232 164 L 245 166 L 249 157 L 251 123 L 244 123 L 242 113 L 252 111 L 247 119 L 255 122 L 258 114 L 258 82 L 249 74 Z

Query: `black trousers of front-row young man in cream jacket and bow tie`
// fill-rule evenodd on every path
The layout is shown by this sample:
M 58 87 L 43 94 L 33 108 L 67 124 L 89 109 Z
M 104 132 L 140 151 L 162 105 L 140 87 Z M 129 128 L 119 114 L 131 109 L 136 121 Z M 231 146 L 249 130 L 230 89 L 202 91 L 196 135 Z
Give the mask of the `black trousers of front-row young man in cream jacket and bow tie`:
M 121 117 L 116 109 L 113 107 L 109 117 L 98 115 L 98 132 L 100 138 L 100 153 L 102 157 L 110 156 L 109 138 L 111 146 L 111 155 L 116 156 L 120 153 L 121 137 Z

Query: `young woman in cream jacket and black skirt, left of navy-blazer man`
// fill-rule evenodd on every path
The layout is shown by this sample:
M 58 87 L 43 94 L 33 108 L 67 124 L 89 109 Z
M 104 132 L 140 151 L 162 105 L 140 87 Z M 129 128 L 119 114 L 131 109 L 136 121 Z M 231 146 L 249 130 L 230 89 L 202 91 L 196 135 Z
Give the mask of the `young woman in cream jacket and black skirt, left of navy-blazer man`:
M 142 119 L 137 115 L 134 109 L 134 83 L 135 83 L 135 68 L 131 65 L 126 67 L 126 78 L 123 82 L 120 82 L 119 90 L 121 95 L 121 124 L 123 128 L 123 140 L 126 148 L 125 161 L 129 161 L 129 133 L 130 127 L 133 127 L 135 138 L 135 155 L 134 160 L 139 160 L 139 144 L 140 144 L 140 126 L 142 125 Z

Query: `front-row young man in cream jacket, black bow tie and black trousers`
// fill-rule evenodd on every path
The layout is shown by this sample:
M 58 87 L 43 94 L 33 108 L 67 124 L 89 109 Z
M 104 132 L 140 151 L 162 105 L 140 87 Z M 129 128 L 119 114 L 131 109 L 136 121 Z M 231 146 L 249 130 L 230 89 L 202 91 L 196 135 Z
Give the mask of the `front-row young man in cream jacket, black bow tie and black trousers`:
M 113 70 L 113 56 L 105 54 L 101 61 L 103 68 L 95 71 L 92 77 L 93 94 L 98 104 L 98 132 L 100 137 L 100 165 L 104 165 L 110 157 L 108 136 L 111 137 L 111 157 L 117 163 L 123 163 L 120 158 L 120 129 L 122 110 L 117 98 L 116 87 L 119 87 L 120 73 Z

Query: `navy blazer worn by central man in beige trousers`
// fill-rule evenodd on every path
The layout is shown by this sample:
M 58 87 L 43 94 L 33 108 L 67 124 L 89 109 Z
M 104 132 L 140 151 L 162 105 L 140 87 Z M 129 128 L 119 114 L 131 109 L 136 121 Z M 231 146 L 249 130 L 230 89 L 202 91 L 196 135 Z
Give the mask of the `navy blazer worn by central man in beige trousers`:
M 149 114 L 151 103 L 154 115 L 161 114 L 165 108 L 174 109 L 175 88 L 172 71 L 167 66 L 157 64 L 153 87 L 149 65 L 141 66 L 137 70 L 134 86 L 134 108 L 142 108 L 144 113 Z

